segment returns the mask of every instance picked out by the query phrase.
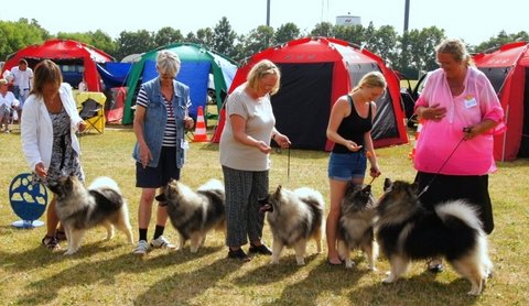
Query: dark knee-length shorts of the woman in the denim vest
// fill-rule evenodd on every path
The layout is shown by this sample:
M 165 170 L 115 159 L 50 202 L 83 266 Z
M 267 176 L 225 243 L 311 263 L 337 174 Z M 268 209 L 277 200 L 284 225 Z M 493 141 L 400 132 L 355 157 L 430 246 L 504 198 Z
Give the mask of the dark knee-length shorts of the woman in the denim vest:
M 171 178 L 180 179 L 175 146 L 162 146 L 156 167 L 143 167 L 141 163 L 136 163 L 136 187 L 159 188 L 165 186 Z

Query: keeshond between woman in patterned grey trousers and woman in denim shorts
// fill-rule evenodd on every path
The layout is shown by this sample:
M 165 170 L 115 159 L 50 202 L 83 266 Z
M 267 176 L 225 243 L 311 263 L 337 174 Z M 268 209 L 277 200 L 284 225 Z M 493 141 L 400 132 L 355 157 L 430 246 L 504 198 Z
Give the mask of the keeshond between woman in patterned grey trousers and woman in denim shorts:
M 260 200 L 261 211 L 272 231 L 272 264 L 279 263 L 284 247 L 293 248 L 298 265 L 305 264 L 306 242 L 316 241 L 322 252 L 322 228 L 325 201 L 321 193 L 302 187 L 289 190 L 279 186 L 267 199 Z

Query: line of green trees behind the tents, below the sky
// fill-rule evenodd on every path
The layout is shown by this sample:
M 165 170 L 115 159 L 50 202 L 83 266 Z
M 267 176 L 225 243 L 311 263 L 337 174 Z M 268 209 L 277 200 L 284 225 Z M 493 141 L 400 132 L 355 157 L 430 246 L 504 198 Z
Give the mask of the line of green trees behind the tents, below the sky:
M 58 32 L 52 35 L 36 20 L 22 18 L 15 22 L 0 21 L 0 59 L 6 61 L 10 54 L 28 45 L 41 44 L 50 39 L 69 39 L 97 47 L 114 56 L 116 61 L 159 46 L 191 42 L 240 62 L 259 51 L 303 36 L 331 36 L 365 47 L 382 57 L 388 66 L 410 78 L 417 78 L 422 73 L 438 67 L 433 56 L 434 47 L 445 39 L 444 30 L 434 25 L 399 35 L 393 26 L 382 25 L 377 29 L 373 22 L 367 26 L 321 22 L 310 32 L 302 32 L 298 25 L 289 22 L 278 29 L 259 25 L 248 33 L 238 34 L 231 29 L 226 17 L 220 18 L 213 29 L 198 29 L 185 35 L 177 29 L 164 26 L 156 32 L 122 31 L 117 39 L 112 39 L 101 30 L 84 33 Z M 529 42 L 529 34 L 525 31 L 511 34 L 501 31 L 476 46 L 468 45 L 468 51 L 484 52 L 515 41 Z

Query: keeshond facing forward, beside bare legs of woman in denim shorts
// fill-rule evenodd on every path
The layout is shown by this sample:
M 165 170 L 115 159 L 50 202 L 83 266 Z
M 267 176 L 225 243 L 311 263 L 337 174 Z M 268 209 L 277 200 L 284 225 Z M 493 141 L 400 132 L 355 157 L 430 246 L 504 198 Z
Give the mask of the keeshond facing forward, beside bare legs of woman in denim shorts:
M 350 252 L 361 250 L 369 261 L 369 269 L 376 271 L 378 244 L 375 241 L 376 201 L 371 194 L 371 185 L 347 184 L 341 205 L 338 220 L 338 254 L 345 260 L 346 267 L 353 267 Z

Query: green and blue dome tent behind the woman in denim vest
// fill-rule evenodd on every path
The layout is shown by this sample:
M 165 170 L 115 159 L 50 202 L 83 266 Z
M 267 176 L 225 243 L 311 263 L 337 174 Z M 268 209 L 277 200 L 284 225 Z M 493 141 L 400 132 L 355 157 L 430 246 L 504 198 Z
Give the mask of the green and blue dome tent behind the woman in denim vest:
M 127 79 L 128 92 L 125 101 L 123 124 L 130 124 L 133 120 L 131 107 L 136 103 L 136 97 L 140 85 L 158 76 L 156 54 L 168 50 L 179 55 L 182 63 L 176 80 L 190 87 L 191 108 L 190 114 L 196 119 L 198 107 L 206 106 L 208 84 L 215 90 L 215 102 L 218 110 L 228 92 L 229 86 L 237 72 L 234 61 L 214 51 L 192 43 L 176 43 L 158 47 L 141 55 L 132 66 Z M 213 85 L 209 79 L 213 76 Z

